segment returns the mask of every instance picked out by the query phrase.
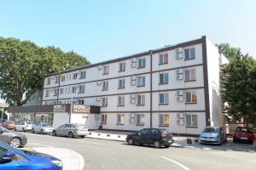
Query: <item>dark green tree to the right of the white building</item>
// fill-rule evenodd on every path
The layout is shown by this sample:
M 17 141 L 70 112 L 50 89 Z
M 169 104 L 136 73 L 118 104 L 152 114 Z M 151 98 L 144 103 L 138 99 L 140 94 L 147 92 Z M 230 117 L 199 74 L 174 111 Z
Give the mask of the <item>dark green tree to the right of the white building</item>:
M 222 99 L 228 105 L 227 113 L 233 121 L 256 124 L 256 61 L 240 48 L 229 44 L 218 46 L 229 63 L 223 65 Z

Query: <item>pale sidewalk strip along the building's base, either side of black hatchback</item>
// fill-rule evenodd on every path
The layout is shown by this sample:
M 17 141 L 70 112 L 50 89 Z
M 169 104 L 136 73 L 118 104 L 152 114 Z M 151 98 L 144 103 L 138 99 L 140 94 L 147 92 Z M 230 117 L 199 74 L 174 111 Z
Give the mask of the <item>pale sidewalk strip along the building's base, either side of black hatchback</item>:
M 108 139 L 108 140 L 119 140 L 125 141 L 127 134 L 129 132 L 117 132 L 117 131 L 105 131 L 105 130 L 96 130 L 89 131 L 89 134 L 86 138 L 94 139 Z M 186 136 L 173 136 L 174 143 L 172 147 L 177 148 L 189 148 L 189 149 L 200 149 L 200 150 L 236 150 L 236 151 L 246 151 L 256 153 L 256 150 L 253 149 L 253 144 L 238 144 L 233 143 L 232 139 L 228 139 L 228 142 L 222 145 L 214 144 L 200 144 L 196 142 L 195 137 L 186 137 Z M 192 139 L 192 144 L 187 144 L 187 139 Z

